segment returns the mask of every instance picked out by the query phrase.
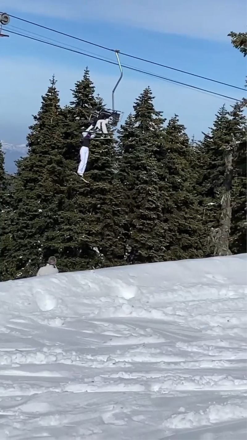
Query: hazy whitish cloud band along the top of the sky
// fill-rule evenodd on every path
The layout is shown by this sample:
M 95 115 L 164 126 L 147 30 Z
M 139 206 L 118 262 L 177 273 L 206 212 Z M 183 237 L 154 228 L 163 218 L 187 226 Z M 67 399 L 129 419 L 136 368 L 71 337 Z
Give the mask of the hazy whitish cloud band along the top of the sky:
M 100 21 L 208 40 L 246 26 L 245 0 L 1 0 L 6 11 L 69 21 Z

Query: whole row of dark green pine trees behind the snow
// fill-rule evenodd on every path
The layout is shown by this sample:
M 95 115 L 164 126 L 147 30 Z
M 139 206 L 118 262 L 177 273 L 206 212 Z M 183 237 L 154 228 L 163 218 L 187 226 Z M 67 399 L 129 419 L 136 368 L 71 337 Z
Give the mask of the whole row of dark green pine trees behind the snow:
M 246 251 L 246 121 L 243 104 L 221 107 L 201 142 L 178 115 L 154 108 L 149 87 L 118 139 L 93 140 L 84 183 L 73 172 L 93 110 L 88 69 L 61 108 L 54 77 L 27 136 L 17 173 L 4 172 L 0 148 L 0 280 L 35 275 L 55 255 L 61 271 L 209 257 L 215 254 L 225 179 L 233 151 L 229 249 Z M 234 139 L 234 144 L 233 144 Z

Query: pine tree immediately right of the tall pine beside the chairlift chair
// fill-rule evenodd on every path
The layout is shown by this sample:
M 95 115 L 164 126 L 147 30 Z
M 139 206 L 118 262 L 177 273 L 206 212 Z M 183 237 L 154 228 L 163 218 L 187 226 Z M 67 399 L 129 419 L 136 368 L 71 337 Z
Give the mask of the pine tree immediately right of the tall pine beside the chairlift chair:
M 205 234 L 196 191 L 196 151 L 176 114 L 168 122 L 159 153 L 167 197 L 163 220 L 168 229 L 165 259 L 203 257 Z

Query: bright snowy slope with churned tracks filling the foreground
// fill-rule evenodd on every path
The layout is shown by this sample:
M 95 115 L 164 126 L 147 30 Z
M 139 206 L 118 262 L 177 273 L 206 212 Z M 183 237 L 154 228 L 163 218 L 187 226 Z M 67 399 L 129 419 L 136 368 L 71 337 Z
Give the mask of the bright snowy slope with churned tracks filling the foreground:
M 246 439 L 246 262 L 0 283 L 0 439 Z

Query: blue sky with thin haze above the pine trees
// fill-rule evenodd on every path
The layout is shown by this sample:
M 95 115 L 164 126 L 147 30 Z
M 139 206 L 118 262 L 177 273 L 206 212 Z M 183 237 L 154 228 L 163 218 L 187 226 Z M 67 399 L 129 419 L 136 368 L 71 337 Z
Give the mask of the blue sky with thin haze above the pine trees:
M 70 6 L 70 5 L 72 6 Z M 38 22 L 85 40 L 137 55 L 168 66 L 188 70 L 243 87 L 246 61 L 230 43 L 227 33 L 245 30 L 245 0 L 1 0 L 9 14 Z M 100 48 L 31 26 L 11 18 L 13 26 L 70 44 L 82 51 L 114 59 Z M 5 27 L 7 30 L 7 26 Z M 41 95 L 54 73 L 61 104 L 71 99 L 70 89 L 89 67 L 96 91 L 111 106 L 111 90 L 118 78 L 117 66 L 82 55 L 49 47 L 10 34 L 1 44 L 0 138 L 7 143 L 24 144 L 32 114 L 39 110 Z M 122 62 L 178 81 L 207 88 L 241 99 L 244 92 L 220 84 L 121 57 Z M 169 118 L 179 114 L 189 136 L 201 137 L 226 99 L 192 91 L 141 73 L 124 70 L 115 96 L 116 108 L 132 111 L 143 88 L 150 85 L 157 110 Z

